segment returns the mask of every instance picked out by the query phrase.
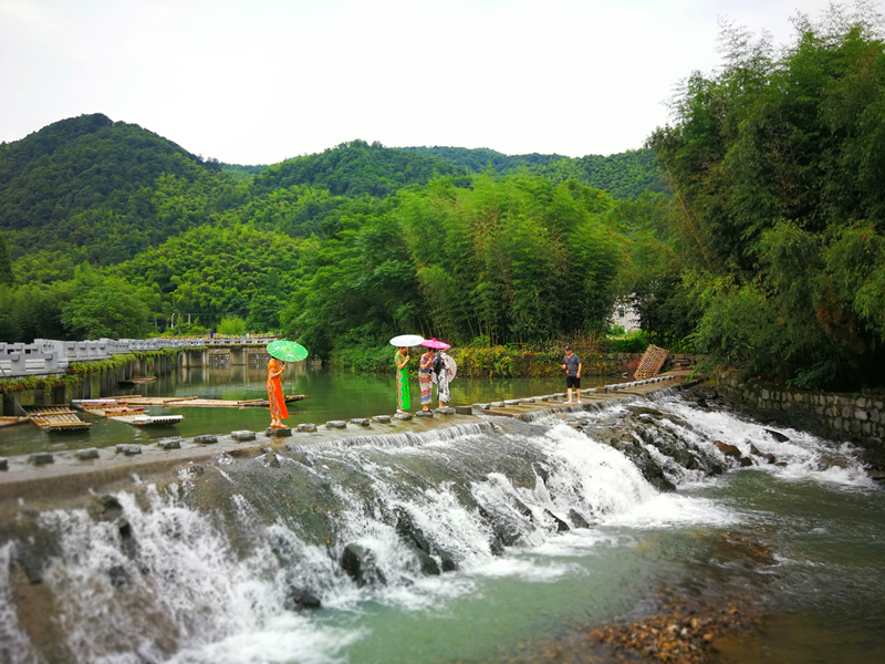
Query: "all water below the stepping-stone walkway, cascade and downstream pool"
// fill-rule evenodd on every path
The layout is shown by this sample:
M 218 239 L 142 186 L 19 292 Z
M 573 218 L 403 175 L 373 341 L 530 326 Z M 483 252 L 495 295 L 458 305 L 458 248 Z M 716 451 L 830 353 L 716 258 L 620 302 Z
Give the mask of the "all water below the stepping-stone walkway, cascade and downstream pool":
M 64 654 L 45 654 L 42 619 L 14 591 L 28 543 L 11 540 L 0 661 L 530 662 L 551 644 L 565 649 L 552 661 L 617 661 L 569 647 L 674 598 L 698 615 L 742 602 L 751 629 L 710 661 L 885 661 L 885 491 L 850 446 L 778 430 L 789 440 L 667 391 L 571 422 L 479 417 L 222 459 L 117 495 L 125 528 L 42 512 L 35 528 L 56 546 L 41 588 Z M 676 490 L 648 480 L 652 461 Z M 321 609 L 303 609 L 305 591 Z

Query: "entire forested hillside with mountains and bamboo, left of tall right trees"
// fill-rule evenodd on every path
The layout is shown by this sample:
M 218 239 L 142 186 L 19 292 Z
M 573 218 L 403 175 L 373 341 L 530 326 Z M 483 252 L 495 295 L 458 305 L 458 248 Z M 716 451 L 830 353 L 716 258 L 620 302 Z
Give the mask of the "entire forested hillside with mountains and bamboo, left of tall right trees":
M 402 329 L 601 330 L 643 206 L 582 184 L 580 159 L 427 149 L 353 141 L 237 166 L 101 114 L 4 144 L 0 339 L 158 333 L 173 312 L 191 330 L 283 326 L 321 356 Z M 649 188 L 637 156 L 597 170 Z

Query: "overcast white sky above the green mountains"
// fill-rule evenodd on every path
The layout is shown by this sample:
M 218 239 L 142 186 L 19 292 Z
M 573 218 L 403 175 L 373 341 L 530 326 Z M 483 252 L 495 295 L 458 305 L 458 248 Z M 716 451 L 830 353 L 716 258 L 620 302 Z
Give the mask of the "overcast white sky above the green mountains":
M 353 138 L 607 155 L 717 64 L 719 18 L 785 42 L 827 4 L 0 0 L 0 141 L 104 113 L 232 164 Z

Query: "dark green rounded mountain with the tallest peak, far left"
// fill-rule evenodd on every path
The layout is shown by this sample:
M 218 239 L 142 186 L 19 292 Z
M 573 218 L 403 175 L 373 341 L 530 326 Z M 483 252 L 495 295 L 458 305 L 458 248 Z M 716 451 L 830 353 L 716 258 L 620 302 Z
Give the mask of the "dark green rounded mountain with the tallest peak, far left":
M 81 249 L 107 264 L 200 222 L 195 197 L 179 205 L 185 189 L 223 209 L 233 185 L 217 164 L 138 125 L 82 115 L 0 146 L 0 230 L 13 258 Z

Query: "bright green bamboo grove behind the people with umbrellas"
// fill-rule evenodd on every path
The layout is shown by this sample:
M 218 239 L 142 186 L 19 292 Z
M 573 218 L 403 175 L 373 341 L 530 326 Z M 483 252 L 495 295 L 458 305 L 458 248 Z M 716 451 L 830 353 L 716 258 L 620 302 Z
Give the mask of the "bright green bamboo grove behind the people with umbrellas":
M 615 201 L 528 175 L 464 184 L 438 178 L 352 209 L 284 328 L 321 355 L 402 330 L 500 343 L 600 329 L 623 260 Z

